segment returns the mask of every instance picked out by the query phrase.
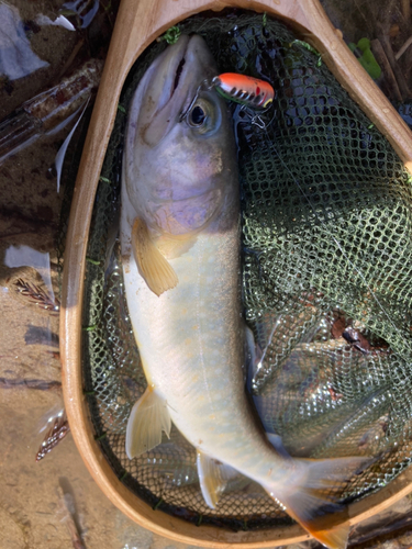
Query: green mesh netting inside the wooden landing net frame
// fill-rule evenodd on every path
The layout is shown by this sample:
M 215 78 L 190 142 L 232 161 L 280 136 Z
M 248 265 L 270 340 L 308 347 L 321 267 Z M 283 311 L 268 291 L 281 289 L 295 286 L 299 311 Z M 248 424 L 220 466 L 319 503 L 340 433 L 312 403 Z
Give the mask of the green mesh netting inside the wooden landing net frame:
M 260 120 L 231 105 L 245 318 L 263 352 L 249 391 L 266 430 L 293 456 L 376 457 L 341 490 L 342 501 L 360 498 L 412 455 L 411 178 L 319 56 L 283 24 L 232 11 L 180 29 L 203 35 L 221 72 L 263 78 L 276 90 Z M 138 59 L 121 99 L 125 111 L 165 47 L 153 44 Z M 288 524 L 243 478 L 210 509 L 194 449 L 176 429 L 151 452 L 126 458 L 126 421 L 146 382 L 116 239 L 125 117 L 120 110 L 89 235 L 83 372 L 96 438 L 122 482 L 155 508 L 232 529 Z

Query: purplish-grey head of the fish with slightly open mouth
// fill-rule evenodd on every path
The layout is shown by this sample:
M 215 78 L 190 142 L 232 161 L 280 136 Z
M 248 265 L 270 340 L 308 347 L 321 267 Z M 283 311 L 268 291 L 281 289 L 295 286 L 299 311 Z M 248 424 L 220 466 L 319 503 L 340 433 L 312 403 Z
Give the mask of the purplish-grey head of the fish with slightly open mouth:
M 157 233 L 222 227 L 236 209 L 226 103 L 204 85 L 216 74 L 203 38 L 182 35 L 155 59 L 135 92 L 123 179 L 135 214 Z

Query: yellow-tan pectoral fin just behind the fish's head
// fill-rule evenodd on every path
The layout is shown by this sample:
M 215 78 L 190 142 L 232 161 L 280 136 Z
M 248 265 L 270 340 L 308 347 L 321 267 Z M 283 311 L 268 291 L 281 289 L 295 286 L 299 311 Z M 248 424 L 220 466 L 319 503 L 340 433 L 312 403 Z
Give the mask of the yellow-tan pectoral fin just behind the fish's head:
M 156 295 L 176 287 L 178 278 L 175 270 L 157 249 L 146 223 L 138 217 L 133 223 L 132 248 L 138 272 Z

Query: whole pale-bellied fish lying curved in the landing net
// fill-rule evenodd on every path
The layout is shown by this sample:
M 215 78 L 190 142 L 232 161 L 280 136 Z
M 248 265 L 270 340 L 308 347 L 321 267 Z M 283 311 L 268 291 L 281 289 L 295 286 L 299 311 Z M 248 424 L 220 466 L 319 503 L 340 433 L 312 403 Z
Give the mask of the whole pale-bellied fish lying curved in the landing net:
M 278 451 L 245 390 L 253 341 L 242 316 L 235 141 L 224 99 L 200 86 L 216 74 L 203 38 L 181 35 L 148 67 L 129 109 L 120 239 L 147 389 L 129 417 L 126 453 L 156 447 L 174 423 L 196 448 L 209 507 L 241 473 L 341 549 L 348 526 L 322 515 L 325 494 L 365 458 L 311 461 Z

